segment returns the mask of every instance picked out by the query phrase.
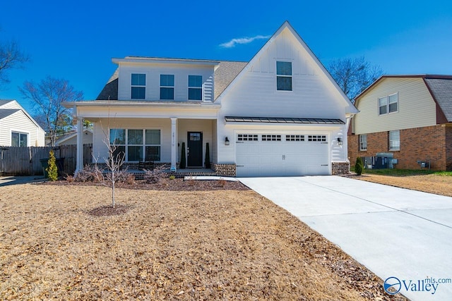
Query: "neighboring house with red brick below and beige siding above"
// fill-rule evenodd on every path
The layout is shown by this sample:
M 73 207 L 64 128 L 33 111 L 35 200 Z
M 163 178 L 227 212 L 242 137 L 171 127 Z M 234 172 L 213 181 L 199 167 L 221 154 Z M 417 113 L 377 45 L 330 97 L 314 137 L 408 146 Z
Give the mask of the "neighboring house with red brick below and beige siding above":
M 386 153 L 396 159 L 394 168 L 452 170 L 452 75 L 383 75 L 355 106 L 352 165 L 357 156 Z

